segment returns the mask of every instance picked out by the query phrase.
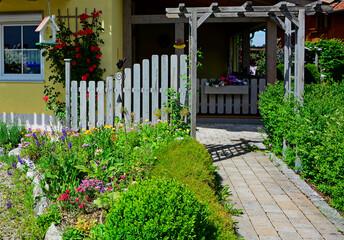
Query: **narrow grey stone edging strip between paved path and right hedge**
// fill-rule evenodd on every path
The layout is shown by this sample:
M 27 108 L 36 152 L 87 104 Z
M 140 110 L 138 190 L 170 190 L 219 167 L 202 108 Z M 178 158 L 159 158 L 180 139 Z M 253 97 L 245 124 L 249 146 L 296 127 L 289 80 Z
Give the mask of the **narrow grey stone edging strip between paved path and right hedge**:
M 330 207 L 325 199 L 314 191 L 303 179 L 300 178 L 288 165 L 271 152 L 265 153 L 276 167 L 295 184 L 300 191 L 305 194 L 312 203 L 322 212 L 342 233 L 344 232 L 344 219 L 334 208 Z

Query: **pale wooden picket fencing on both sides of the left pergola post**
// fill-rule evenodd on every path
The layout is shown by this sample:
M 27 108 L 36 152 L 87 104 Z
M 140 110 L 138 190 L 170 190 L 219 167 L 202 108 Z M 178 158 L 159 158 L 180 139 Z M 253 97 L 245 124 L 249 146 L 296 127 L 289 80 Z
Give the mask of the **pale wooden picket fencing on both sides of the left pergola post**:
M 164 103 L 167 89 L 180 92 L 180 102 L 187 103 L 187 63 L 186 55 L 153 55 L 151 61 L 134 64 L 133 69 L 118 72 L 115 79 L 104 81 L 71 82 L 71 127 L 91 128 L 113 125 L 115 116 L 133 117 L 135 121 L 159 117 L 167 119 Z M 205 94 L 206 79 L 198 80 L 197 113 L 199 114 L 257 114 L 258 93 L 265 88 L 265 79 L 251 79 L 249 94 Z M 200 84 L 201 83 L 201 84 Z M 161 110 L 161 116 L 156 114 Z

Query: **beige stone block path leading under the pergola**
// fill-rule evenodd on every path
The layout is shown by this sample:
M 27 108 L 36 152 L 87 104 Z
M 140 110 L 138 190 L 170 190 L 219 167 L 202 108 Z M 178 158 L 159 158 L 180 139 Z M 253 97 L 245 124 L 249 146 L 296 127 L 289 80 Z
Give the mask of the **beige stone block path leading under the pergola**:
M 235 217 L 244 239 L 341 240 L 338 232 L 318 208 L 271 160 L 249 146 L 264 148 L 257 125 L 199 125 L 197 139 L 219 167 L 231 199 L 244 214 Z

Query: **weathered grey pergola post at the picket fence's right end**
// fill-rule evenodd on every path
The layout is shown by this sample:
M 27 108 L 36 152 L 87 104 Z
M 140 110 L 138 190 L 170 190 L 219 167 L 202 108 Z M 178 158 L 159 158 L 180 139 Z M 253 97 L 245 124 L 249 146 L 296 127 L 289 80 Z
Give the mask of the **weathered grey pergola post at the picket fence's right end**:
M 190 23 L 190 81 L 191 81 L 191 136 L 196 138 L 196 90 L 197 90 L 197 11 L 191 11 Z

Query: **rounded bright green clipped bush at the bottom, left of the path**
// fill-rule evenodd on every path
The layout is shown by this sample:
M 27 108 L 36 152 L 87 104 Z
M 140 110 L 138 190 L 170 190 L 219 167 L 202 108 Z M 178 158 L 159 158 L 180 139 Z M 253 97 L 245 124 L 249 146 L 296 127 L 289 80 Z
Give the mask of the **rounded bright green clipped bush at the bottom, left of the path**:
M 165 179 L 137 183 L 110 209 L 96 239 L 210 239 L 209 213 L 192 191 Z

